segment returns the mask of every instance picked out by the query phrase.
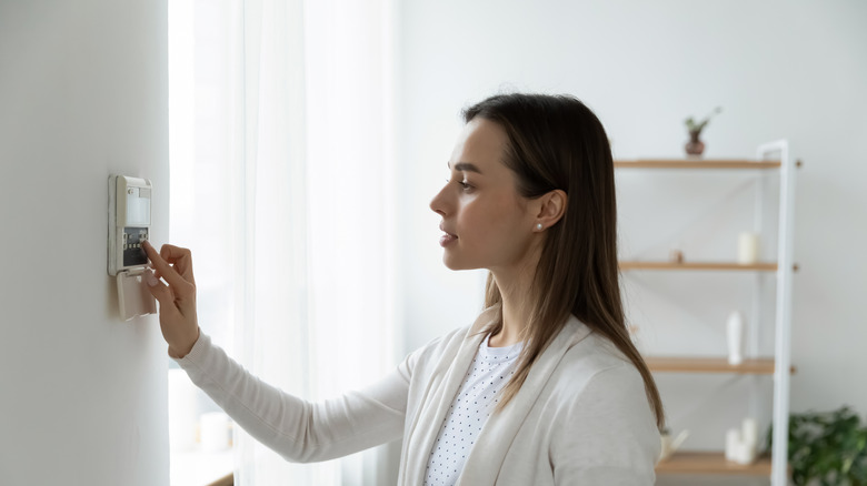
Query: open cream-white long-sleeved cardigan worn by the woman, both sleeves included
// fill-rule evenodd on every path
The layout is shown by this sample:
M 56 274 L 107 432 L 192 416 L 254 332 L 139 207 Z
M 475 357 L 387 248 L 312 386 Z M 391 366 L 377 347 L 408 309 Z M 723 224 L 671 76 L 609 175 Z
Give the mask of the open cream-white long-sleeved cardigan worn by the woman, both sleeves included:
M 401 486 L 423 484 L 437 434 L 496 318 L 410 354 L 376 384 L 322 403 L 250 375 L 202 334 L 178 363 L 240 426 L 291 462 L 316 462 L 403 438 Z M 652 485 L 659 432 L 638 371 L 610 342 L 571 316 L 532 365 L 518 394 L 485 424 L 461 486 Z

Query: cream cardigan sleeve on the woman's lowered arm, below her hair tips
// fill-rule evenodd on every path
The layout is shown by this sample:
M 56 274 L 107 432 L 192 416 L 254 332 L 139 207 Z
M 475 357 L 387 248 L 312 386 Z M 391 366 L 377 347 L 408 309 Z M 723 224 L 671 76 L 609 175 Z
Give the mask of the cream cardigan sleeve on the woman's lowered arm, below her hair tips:
M 562 405 L 549 458 L 556 485 L 652 485 L 659 431 L 630 363 L 596 373 Z

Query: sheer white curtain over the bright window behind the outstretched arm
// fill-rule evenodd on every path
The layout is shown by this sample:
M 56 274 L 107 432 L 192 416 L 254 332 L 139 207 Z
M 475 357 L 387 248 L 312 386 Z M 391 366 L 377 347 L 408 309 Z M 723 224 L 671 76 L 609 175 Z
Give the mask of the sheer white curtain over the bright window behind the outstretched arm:
M 192 11 L 191 65 L 170 73 L 186 87 L 172 136 L 187 126 L 195 138 L 172 152 L 172 239 L 192 242 L 202 328 L 233 334 L 217 342 L 308 399 L 363 386 L 401 357 L 390 1 L 170 2 Z M 209 328 L 206 302 L 233 333 Z M 240 485 L 377 485 L 397 468 L 382 447 L 296 465 L 235 437 Z

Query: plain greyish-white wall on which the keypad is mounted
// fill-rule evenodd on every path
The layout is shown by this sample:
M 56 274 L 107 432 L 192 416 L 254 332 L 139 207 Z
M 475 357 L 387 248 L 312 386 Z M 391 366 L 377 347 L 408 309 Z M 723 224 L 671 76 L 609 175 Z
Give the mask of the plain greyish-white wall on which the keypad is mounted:
M 107 179 L 168 239 L 165 2 L 0 2 L 0 483 L 167 485 L 166 346 L 118 318 Z

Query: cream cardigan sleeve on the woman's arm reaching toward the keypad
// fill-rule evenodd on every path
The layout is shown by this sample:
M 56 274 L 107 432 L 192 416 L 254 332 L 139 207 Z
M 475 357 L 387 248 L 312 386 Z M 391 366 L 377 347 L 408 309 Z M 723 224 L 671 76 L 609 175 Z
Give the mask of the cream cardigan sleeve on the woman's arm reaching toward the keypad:
M 341 457 L 403 431 L 411 357 L 379 382 L 321 403 L 263 383 L 205 334 L 177 362 L 236 423 L 290 462 Z

